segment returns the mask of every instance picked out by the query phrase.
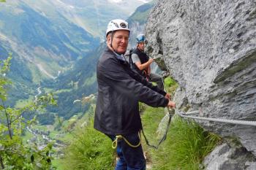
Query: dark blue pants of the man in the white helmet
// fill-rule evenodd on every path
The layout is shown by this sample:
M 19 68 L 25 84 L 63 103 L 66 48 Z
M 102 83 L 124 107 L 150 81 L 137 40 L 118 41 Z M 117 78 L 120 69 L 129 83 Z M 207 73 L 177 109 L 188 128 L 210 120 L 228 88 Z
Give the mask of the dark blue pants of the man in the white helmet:
M 114 135 L 108 135 L 112 141 L 116 139 Z M 124 135 L 129 143 L 137 145 L 140 142 L 138 133 Z M 145 170 L 146 160 L 143 155 L 141 144 L 139 147 L 130 147 L 124 139 L 118 140 L 116 152 L 118 161 L 115 170 Z

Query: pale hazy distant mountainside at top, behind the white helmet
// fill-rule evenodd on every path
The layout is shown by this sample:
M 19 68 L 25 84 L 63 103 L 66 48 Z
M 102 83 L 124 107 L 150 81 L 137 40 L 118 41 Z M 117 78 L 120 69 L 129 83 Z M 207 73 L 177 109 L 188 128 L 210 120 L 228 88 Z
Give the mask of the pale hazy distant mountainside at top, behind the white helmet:
M 23 0 L 47 18 L 62 15 L 71 23 L 80 26 L 94 36 L 104 38 L 109 20 L 127 19 L 135 9 L 146 1 L 113 0 Z M 57 18 L 56 18 L 57 19 Z

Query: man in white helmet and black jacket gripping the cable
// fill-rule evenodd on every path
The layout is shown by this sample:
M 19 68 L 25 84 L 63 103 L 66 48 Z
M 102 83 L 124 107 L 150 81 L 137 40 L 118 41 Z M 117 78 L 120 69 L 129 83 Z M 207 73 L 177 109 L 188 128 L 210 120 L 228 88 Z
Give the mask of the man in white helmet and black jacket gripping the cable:
M 117 141 L 116 170 L 143 170 L 146 161 L 138 136 L 142 129 L 138 101 L 151 107 L 175 107 L 175 103 L 169 100 L 170 94 L 130 69 L 124 59 L 129 32 L 124 20 L 111 20 L 108 24 L 107 47 L 97 63 L 94 128 Z

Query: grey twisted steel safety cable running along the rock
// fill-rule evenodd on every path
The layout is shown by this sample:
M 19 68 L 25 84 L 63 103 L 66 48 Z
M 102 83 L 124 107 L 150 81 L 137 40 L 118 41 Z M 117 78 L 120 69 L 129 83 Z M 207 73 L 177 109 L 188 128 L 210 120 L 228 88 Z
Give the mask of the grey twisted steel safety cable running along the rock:
M 220 123 L 231 123 L 236 125 L 253 125 L 256 126 L 256 121 L 249 121 L 249 120 L 232 120 L 232 119 L 222 119 L 222 118 L 211 118 L 211 117 L 198 117 L 198 116 L 190 116 L 193 114 L 199 113 L 199 110 L 194 110 L 192 112 L 182 112 L 178 111 L 177 114 L 180 117 L 187 117 L 192 119 L 198 119 L 198 120 L 208 120 L 208 121 L 214 121 L 214 122 L 220 122 Z

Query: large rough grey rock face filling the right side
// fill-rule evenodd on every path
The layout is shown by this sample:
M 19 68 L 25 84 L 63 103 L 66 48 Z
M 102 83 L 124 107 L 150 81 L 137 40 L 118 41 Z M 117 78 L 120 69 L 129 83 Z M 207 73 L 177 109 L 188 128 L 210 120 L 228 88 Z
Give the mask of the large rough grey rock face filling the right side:
M 256 1 L 158 1 L 146 38 L 148 55 L 179 84 L 177 109 L 256 120 Z M 256 155 L 255 126 L 199 123 Z

